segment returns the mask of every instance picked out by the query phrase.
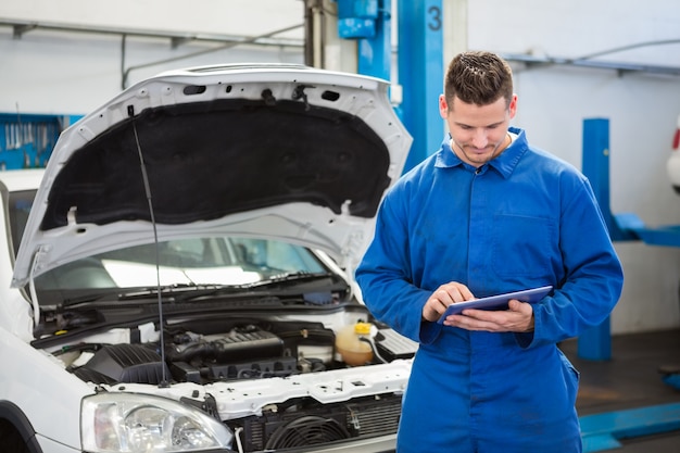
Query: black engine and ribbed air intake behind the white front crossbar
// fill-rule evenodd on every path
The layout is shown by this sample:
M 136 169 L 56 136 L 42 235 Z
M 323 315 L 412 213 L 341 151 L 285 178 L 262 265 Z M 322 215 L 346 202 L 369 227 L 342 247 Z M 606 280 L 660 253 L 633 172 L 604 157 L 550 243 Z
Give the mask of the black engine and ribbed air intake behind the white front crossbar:
M 284 327 L 287 327 L 284 329 Z M 297 329 L 295 329 L 297 327 Z M 79 344 L 91 354 L 85 365 L 70 366 L 80 379 L 95 383 L 174 382 L 209 383 L 236 379 L 285 377 L 318 372 L 329 366 L 333 331 L 320 324 L 243 324 L 219 334 L 166 328 L 164 357 L 160 342 L 130 344 Z M 304 347 L 315 351 L 305 357 Z M 73 348 L 65 351 L 73 352 Z

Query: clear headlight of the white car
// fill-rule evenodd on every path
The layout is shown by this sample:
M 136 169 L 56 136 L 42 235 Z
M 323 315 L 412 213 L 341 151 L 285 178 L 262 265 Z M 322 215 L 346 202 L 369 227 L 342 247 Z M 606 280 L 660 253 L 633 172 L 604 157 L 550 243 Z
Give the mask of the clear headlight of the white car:
M 210 415 L 176 401 L 139 393 L 99 393 L 83 399 L 83 450 L 191 452 L 228 450 L 234 435 Z

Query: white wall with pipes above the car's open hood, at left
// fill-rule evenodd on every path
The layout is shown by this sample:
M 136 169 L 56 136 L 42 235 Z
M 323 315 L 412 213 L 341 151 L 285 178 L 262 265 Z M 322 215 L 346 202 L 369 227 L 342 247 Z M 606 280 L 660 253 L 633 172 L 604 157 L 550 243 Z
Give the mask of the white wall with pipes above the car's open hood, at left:
M 275 38 L 302 41 L 301 0 L 3 0 L 3 20 L 98 29 L 182 33 L 203 37 L 256 37 L 293 27 Z M 123 55 L 118 35 L 36 29 L 13 38 L 0 25 L 0 112 L 85 114 L 121 90 L 123 67 L 219 49 L 193 41 L 175 49 L 169 39 L 128 37 Z M 124 60 L 123 60 L 124 59 Z M 237 46 L 129 73 L 129 85 L 161 71 L 243 61 L 303 61 L 302 48 Z

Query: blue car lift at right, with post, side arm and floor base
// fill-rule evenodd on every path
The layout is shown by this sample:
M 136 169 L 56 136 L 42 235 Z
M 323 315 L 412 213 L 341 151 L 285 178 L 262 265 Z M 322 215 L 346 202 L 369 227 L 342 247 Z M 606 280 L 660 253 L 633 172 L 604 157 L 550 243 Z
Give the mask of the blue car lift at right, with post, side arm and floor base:
M 648 228 L 631 213 L 613 215 L 609 207 L 609 121 L 583 121 L 583 174 L 600 203 L 614 241 L 642 240 L 664 247 L 680 247 L 680 226 Z M 585 360 L 610 358 L 610 329 L 607 318 L 578 339 L 578 355 Z M 680 388 L 680 378 L 667 376 L 666 383 Z M 680 403 L 660 404 L 580 417 L 584 452 L 621 446 L 619 439 L 680 430 Z

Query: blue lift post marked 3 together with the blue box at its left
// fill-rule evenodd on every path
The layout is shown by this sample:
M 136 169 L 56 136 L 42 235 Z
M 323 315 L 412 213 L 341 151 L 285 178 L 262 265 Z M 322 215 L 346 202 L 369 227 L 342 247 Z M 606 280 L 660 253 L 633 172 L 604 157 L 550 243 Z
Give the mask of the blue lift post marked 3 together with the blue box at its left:
M 338 34 L 355 39 L 360 74 L 391 79 L 391 0 L 337 0 Z M 404 172 L 437 152 L 444 122 L 437 99 L 442 91 L 444 16 L 442 0 L 398 0 L 399 84 L 396 113 L 413 136 Z

